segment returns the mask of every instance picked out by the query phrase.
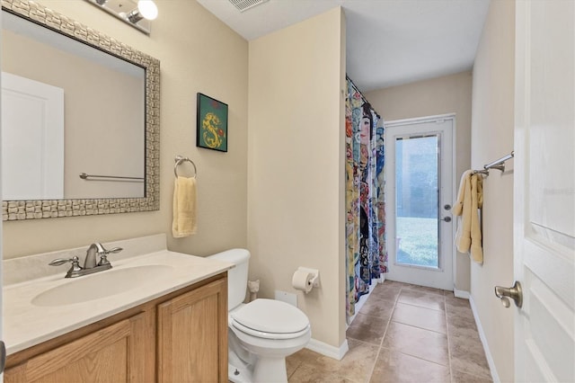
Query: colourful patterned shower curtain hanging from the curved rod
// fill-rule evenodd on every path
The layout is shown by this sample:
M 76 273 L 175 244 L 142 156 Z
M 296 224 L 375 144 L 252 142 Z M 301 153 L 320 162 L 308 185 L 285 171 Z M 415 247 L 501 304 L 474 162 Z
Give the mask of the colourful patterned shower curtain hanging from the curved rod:
M 347 318 L 372 279 L 387 272 L 385 249 L 384 128 L 348 78 L 346 99 Z M 383 125 L 383 120 L 381 120 Z

